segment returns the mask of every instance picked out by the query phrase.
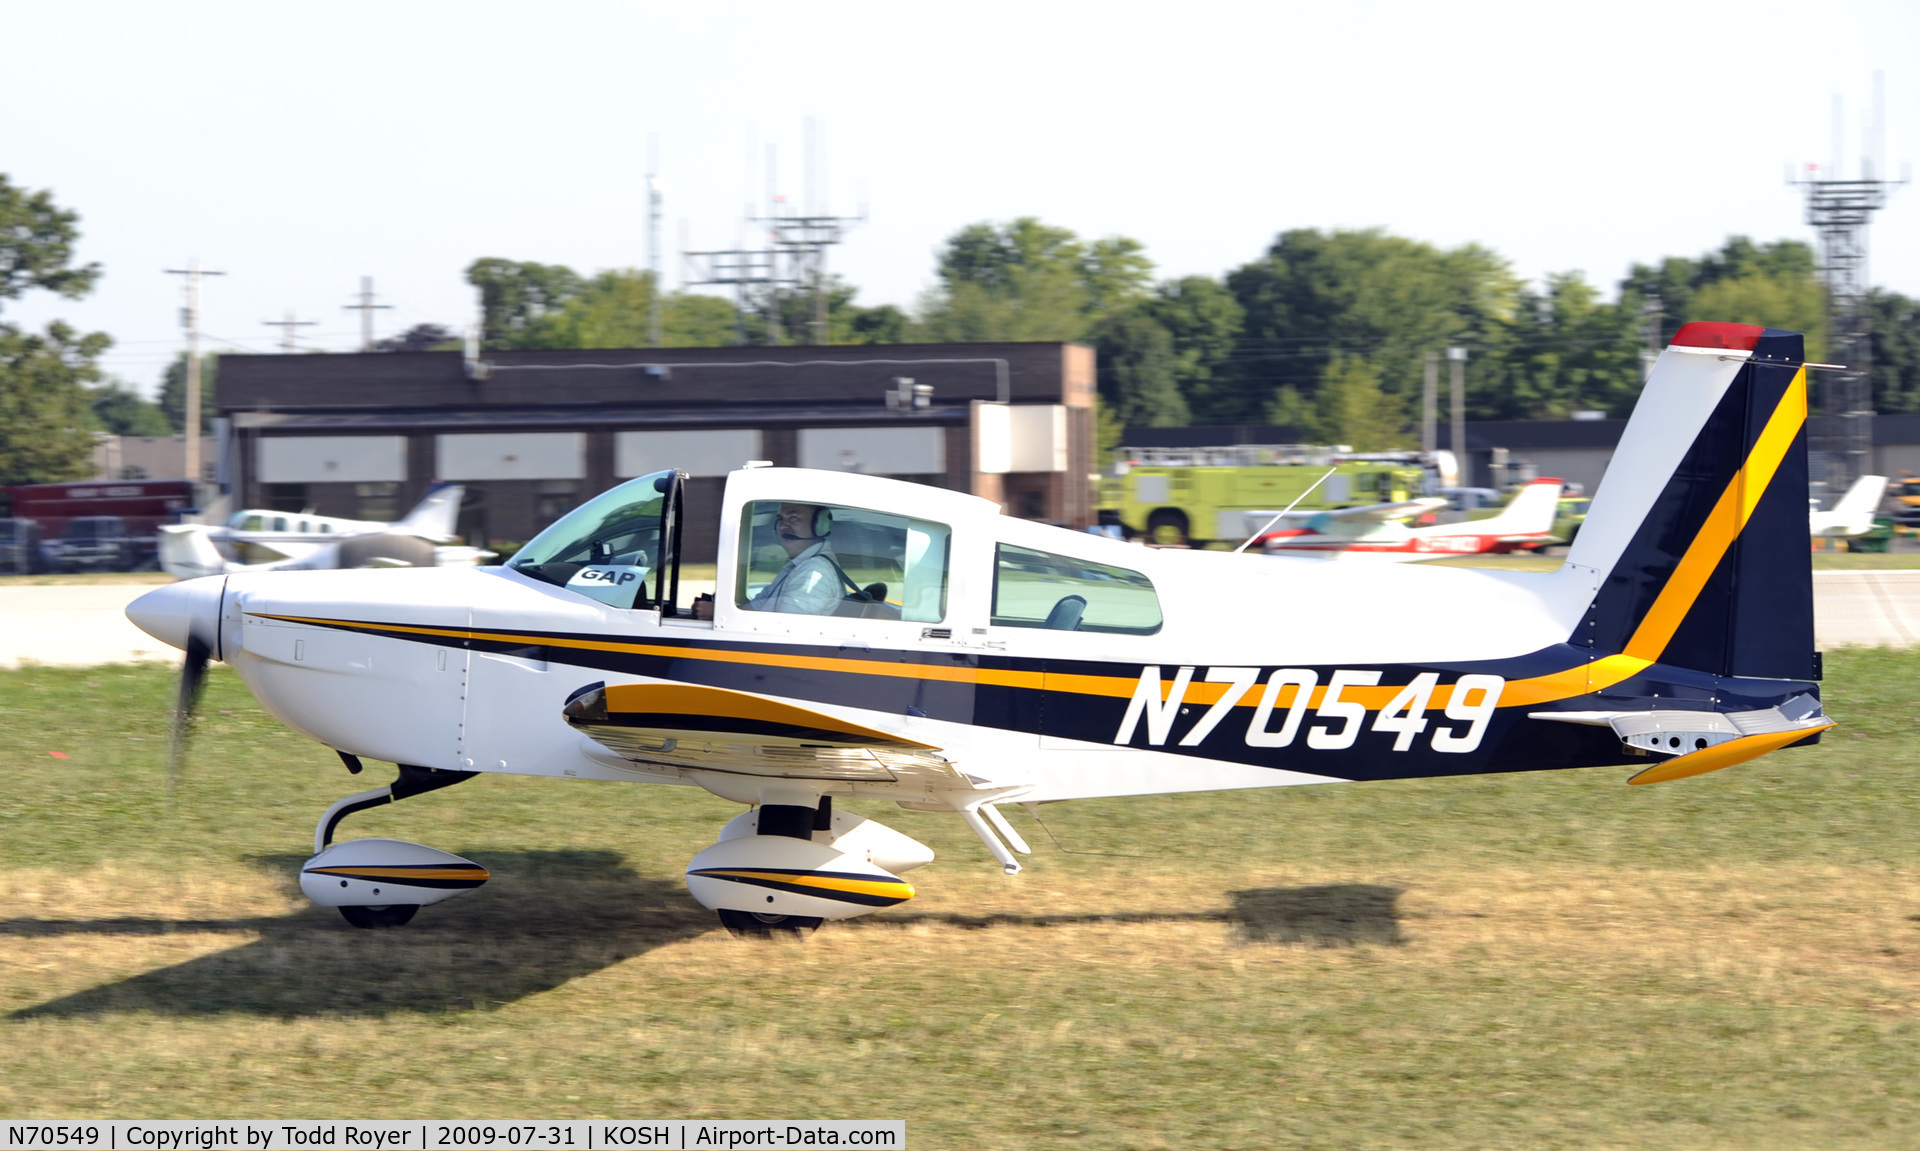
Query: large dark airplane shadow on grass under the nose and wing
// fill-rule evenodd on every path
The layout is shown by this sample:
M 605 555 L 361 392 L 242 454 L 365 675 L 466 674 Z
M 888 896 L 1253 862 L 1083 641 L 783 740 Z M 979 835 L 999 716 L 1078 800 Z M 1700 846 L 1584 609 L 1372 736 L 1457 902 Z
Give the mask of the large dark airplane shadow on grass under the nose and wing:
M 156 1015 L 386 1016 L 493 1009 L 634 955 L 718 930 L 680 876 L 647 878 L 612 851 L 472 851 L 493 872 L 422 907 L 407 926 L 361 930 L 332 909 L 280 917 L 0 920 L 0 936 L 248 932 L 238 947 L 12 1013 L 10 1018 Z M 252 863 L 292 882 L 305 857 Z

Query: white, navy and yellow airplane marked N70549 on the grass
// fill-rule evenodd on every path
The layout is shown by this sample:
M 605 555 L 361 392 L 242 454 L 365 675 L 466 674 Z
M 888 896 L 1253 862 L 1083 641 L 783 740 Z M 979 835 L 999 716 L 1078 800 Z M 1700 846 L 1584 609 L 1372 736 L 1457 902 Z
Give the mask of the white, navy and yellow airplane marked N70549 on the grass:
M 958 815 L 1344 780 L 1632 765 L 1676 780 L 1816 742 L 1801 336 L 1684 327 L 1555 573 L 1158 551 L 864 475 L 728 477 L 710 619 L 685 477 L 589 500 L 499 569 L 238 573 L 127 615 L 300 732 L 399 765 L 334 803 L 301 888 L 397 924 L 486 869 L 355 811 L 492 772 L 749 805 L 687 867 L 737 934 L 912 897 L 931 859 L 835 807 Z M 1442 611 L 1430 611 L 1444 605 Z

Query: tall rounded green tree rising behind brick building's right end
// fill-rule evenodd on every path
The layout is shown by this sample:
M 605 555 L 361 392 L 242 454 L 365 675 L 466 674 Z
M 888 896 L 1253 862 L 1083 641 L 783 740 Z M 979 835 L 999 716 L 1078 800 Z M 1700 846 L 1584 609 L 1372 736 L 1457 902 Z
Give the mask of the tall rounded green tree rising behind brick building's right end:
M 927 340 L 1081 340 L 1102 315 L 1146 294 L 1152 263 L 1137 240 L 1089 244 L 1020 217 L 948 236 L 937 275 L 939 286 L 922 300 Z

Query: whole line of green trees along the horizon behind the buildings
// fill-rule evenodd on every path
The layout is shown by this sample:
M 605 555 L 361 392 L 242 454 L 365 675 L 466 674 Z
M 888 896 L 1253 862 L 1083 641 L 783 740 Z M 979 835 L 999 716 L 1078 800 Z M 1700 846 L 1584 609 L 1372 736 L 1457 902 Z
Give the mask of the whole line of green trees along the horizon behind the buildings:
M 77 240 L 77 213 L 0 175 L 0 306 L 29 290 L 86 294 L 100 267 L 75 265 Z M 657 284 L 645 271 L 482 257 L 467 281 L 480 294 L 486 348 L 649 344 Z M 1444 348 L 1469 354 L 1469 419 L 1624 417 L 1644 354 L 1692 319 L 1797 329 L 1811 359 L 1826 355 L 1812 248 L 1745 236 L 1636 263 L 1607 298 L 1578 271 L 1530 284 L 1478 244 L 1442 248 L 1382 229 L 1292 229 L 1219 277 L 1156 279 L 1139 240 L 1021 217 L 952 233 L 912 307 L 864 306 L 839 277 L 818 288 L 824 332 L 808 290 L 741 304 L 662 292 L 662 342 L 1087 342 L 1098 350 L 1104 440 L 1127 425 L 1273 423 L 1361 450 L 1411 444 L 1427 355 Z M 1920 300 L 1876 290 L 1870 307 L 1874 407 L 1920 411 Z M 150 402 L 102 375 L 109 344 L 58 321 L 40 332 L 0 321 L 0 482 L 84 477 L 98 430 L 184 429 L 184 363 L 167 369 Z M 459 336 L 419 325 L 380 348 L 451 350 Z M 202 425 L 215 379 L 209 365 Z

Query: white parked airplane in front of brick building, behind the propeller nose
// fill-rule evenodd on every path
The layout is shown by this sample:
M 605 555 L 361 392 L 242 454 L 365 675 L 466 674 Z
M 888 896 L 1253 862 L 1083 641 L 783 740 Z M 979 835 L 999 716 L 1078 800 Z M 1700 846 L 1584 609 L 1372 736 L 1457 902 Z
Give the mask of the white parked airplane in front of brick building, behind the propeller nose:
M 248 507 L 223 527 L 159 528 L 159 567 L 182 580 L 242 571 L 326 567 L 472 565 L 478 548 L 447 548 L 461 513 L 461 484 L 434 484 L 396 523 Z

